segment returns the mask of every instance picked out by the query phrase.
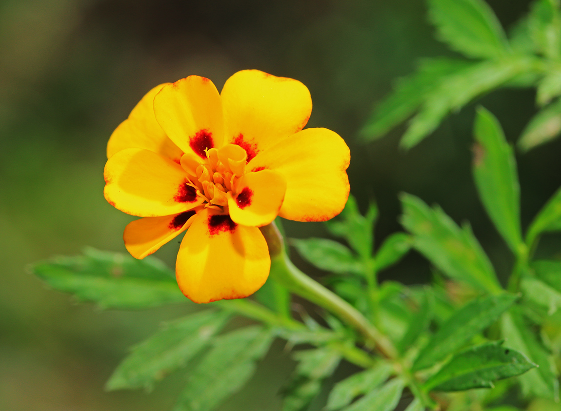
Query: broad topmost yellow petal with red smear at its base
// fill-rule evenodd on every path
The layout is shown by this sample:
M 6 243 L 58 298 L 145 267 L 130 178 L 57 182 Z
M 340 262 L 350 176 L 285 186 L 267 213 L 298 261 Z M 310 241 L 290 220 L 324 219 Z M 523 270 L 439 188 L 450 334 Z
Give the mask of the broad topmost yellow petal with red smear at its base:
M 259 70 L 238 71 L 222 93 L 226 142 L 240 145 L 251 160 L 281 137 L 306 125 L 312 110 L 310 91 L 300 81 Z

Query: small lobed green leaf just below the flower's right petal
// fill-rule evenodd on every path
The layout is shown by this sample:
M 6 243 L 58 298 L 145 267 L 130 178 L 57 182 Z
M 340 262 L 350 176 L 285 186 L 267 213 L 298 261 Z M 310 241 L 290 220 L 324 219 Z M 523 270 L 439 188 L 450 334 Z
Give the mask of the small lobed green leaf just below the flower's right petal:
M 366 215 L 362 216 L 355 197 L 351 195 L 340 215 L 342 219 L 325 223 L 329 231 L 337 237 L 346 239 L 361 257 L 370 257 L 374 246 L 374 222 L 378 216 L 376 204 L 371 202 Z

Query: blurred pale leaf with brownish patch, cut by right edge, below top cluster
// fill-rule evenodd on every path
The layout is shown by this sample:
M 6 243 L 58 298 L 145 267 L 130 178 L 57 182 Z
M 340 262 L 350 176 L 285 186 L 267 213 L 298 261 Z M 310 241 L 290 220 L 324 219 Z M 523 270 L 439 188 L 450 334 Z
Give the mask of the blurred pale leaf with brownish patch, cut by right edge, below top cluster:
M 519 138 L 517 145 L 522 151 L 528 151 L 557 137 L 561 132 L 561 99 L 538 112 Z

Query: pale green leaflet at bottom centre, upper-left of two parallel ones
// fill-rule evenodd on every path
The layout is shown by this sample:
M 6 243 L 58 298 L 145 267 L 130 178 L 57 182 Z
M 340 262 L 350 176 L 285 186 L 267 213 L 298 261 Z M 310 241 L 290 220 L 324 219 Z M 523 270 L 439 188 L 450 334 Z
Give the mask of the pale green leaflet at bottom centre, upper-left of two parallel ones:
M 388 379 L 391 372 L 391 364 L 380 361 L 369 370 L 357 372 L 339 381 L 329 393 L 325 409 L 334 411 L 346 407 L 357 396 L 366 394 L 382 384 Z

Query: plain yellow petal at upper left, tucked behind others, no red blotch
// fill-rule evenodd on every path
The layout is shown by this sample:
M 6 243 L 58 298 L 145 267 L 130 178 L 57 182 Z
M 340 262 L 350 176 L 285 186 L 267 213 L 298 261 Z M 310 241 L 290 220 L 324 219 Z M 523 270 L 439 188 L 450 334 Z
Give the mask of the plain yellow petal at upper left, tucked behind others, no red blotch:
M 166 83 L 167 84 L 167 83 Z M 113 131 L 107 143 L 107 158 L 124 149 L 146 149 L 179 161 L 183 154 L 156 121 L 152 106 L 154 96 L 165 84 L 151 89 L 132 109 L 128 118 Z

